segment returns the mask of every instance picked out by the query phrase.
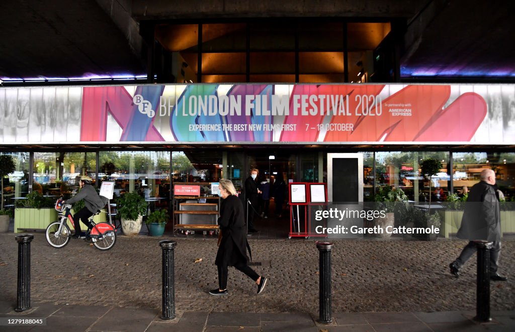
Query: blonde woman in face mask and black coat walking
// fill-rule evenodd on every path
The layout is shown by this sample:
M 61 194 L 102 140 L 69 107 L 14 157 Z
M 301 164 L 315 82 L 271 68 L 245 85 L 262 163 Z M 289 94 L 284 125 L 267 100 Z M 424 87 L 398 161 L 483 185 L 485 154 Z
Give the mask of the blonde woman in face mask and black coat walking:
M 211 295 L 229 295 L 227 291 L 228 267 L 234 266 L 255 281 L 258 285 L 258 294 L 260 294 L 265 289 L 267 278 L 258 275 L 249 267 L 247 249 L 250 257 L 252 257 L 252 253 L 247 242 L 242 201 L 236 196 L 236 189 L 231 180 L 220 180 L 218 190 L 218 195 L 224 199 L 218 218 L 221 240 L 215 259 L 215 265 L 218 267 L 218 289 L 213 289 L 209 293 Z

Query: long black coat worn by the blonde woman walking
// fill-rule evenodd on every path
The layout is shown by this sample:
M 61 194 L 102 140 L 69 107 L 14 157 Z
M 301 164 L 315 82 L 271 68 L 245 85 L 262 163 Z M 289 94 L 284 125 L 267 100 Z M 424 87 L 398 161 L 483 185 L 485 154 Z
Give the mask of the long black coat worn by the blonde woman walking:
M 247 248 L 249 253 L 250 248 L 247 242 L 244 216 L 243 204 L 238 197 L 229 195 L 222 201 L 218 218 L 222 239 L 216 253 L 216 265 L 245 266 L 249 264 Z

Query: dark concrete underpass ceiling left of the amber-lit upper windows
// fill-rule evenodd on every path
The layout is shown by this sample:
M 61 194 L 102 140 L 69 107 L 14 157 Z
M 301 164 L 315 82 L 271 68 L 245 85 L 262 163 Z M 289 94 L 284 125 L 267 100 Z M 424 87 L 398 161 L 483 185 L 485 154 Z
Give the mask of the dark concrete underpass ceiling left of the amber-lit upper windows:
M 128 39 L 95 0 L 4 0 L 0 79 L 146 77 Z

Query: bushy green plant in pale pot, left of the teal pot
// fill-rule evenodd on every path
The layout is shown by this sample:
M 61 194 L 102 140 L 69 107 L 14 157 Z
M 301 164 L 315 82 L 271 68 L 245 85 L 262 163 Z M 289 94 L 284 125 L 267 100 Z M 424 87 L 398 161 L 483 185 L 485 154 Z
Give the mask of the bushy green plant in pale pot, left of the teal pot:
M 147 212 L 145 199 L 133 191 L 119 197 L 118 206 L 124 234 L 127 236 L 138 235 L 141 231 L 143 215 Z

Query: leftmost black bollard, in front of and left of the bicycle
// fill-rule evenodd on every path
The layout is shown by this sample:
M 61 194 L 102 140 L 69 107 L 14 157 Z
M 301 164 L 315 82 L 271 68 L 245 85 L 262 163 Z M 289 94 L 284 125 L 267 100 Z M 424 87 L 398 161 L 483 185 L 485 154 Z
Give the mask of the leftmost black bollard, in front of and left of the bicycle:
M 30 309 L 30 242 L 32 234 L 16 235 L 18 242 L 18 293 L 15 311 Z

